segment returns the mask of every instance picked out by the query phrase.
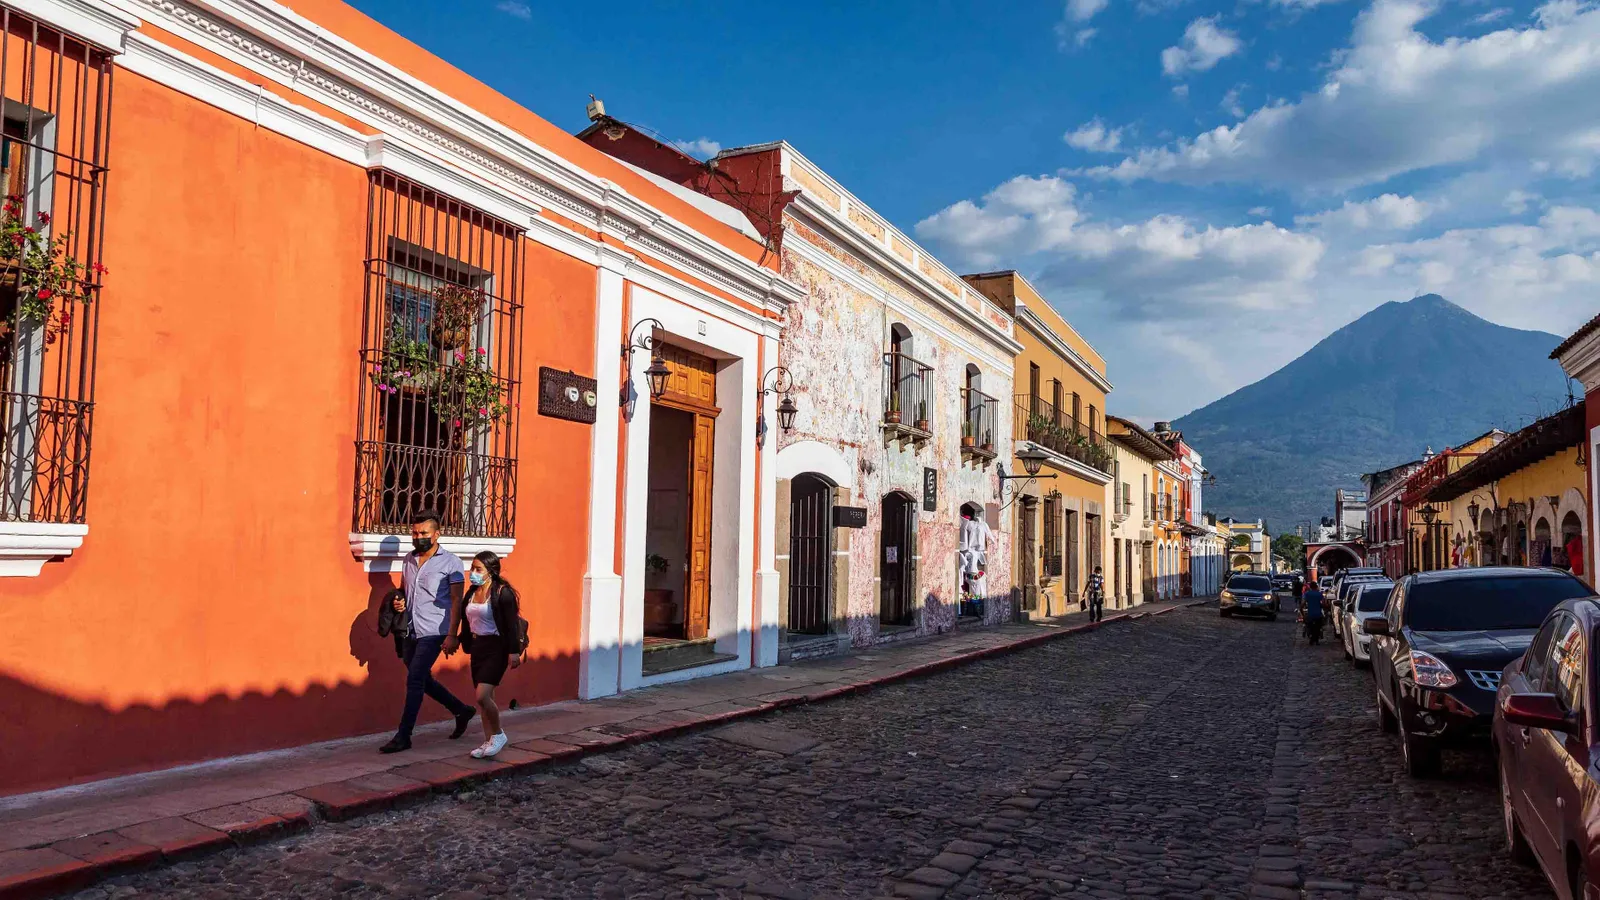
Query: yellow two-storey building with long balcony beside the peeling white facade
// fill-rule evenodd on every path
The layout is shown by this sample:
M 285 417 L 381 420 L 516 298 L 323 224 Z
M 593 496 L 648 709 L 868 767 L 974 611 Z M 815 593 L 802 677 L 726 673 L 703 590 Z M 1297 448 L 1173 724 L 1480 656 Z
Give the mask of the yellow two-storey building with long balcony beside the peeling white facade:
M 1037 479 L 1006 482 L 1016 503 L 1011 578 L 1026 615 L 1075 610 L 1094 567 L 1106 596 L 1125 562 L 1107 554 L 1114 458 L 1106 440 L 1106 360 L 1014 271 L 963 275 L 1016 319 L 1013 450 L 1010 474 L 1043 456 Z M 1120 575 L 1126 581 L 1126 575 Z

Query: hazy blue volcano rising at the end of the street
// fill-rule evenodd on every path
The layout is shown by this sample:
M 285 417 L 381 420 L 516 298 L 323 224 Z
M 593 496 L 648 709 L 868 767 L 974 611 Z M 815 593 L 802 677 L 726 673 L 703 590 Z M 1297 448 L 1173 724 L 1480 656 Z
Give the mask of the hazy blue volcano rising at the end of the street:
M 1334 488 L 1360 488 L 1362 472 L 1560 408 L 1558 343 L 1432 293 L 1386 303 L 1173 428 L 1216 474 L 1206 509 L 1288 532 L 1331 516 Z

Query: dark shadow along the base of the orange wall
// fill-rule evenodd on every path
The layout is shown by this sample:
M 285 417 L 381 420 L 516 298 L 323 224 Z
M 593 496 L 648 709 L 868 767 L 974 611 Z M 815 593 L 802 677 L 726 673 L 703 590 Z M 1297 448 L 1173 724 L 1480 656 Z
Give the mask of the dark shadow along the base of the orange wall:
M 0 674 L 0 722 L 5 722 L 0 794 L 392 730 L 405 703 L 405 668 L 395 657 L 394 641 L 378 636 L 378 604 L 394 589 L 395 580 L 373 573 L 368 583 L 366 609 L 350 621 L 349 634 L 350 657 L 366 668 L 360 682 L 312 684 L 299 693 L 286 689 L 238 697 L 214 693 L 198 701 L 109 709 Z M 270 642 L 272 636 L 240 634 L 240 641 Z M 173 647 L 171 652 L 186 650 Z M 466 653 L 442 661 L 434 673 L 451 693 L 472 701 Z M 576 653 L 560 653 L 530 658 L 507 671 L 498 700 L 502 708 L 512 700 L 518 706 L 534 706 L 576 693 Z M 421 722 L 443 717 L 438 703 L 422 703 Z

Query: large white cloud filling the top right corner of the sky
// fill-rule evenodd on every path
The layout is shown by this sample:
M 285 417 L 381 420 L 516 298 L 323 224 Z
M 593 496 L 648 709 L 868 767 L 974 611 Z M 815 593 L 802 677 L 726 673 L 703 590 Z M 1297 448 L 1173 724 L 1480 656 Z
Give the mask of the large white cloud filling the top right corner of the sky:
M 1341 191 L 1475 162 L 1531 160 L 1568 178 L 1595 168 L 1600 6 L 1558 0 L 1536 24 L 1438 42 L 1418 30 L 1432 11 L 1376 0 L 1315 91 L 1088 175 Z M 1174 66 L 1194 67 L 1187 51 L 1170 50 Z

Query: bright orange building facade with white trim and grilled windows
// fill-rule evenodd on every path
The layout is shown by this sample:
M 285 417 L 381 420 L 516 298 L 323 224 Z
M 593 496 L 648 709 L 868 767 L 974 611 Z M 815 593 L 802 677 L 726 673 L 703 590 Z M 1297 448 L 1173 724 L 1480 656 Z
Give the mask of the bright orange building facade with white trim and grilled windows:
M 394 727 L 424 508 L 523 588 L 506 700 L 650 684 L 653 356 L 720 407 L 656 516 L 704 560 L 672 625 L 773 658 L 757 386 L 803 291 L 763 242 L 350 6 L 216 6 L 0 5 L 5 215 L 78 272 L 5 298 L 0 791 Z

